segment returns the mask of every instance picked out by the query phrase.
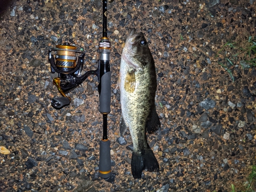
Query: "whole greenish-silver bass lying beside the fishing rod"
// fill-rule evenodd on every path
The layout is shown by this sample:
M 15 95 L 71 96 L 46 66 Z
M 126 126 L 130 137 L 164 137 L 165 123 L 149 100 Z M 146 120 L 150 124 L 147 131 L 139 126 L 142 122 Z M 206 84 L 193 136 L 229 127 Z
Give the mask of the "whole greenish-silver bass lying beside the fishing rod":
M 129 127 L 133 141 L 132 175 L 139 179 L 143 170 L 159 172 L 159 164 L 147 143 L 146 132 L 156 132 L 161 123 L 155 105 L 155 62 L 143 33 L 136 32 L 136 29 L 132 29 L 126 38 L 118 81 L 122 111 L 120 135 L 123 136 Z

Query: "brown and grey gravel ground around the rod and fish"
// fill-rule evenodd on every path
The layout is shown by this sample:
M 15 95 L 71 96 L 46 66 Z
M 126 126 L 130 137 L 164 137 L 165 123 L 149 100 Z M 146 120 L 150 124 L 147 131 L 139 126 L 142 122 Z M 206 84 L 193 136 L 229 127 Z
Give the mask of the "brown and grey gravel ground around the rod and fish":
M 229 191 L 255 164 L 256 70 L 215 57 L 231 37 L 256 36 L 253 1 L 116 1 L 108 6 L 112 42 L 109 139 L 113 175 L 98 177 L 102 116 L 97 78 L 69 93 L 61 110 L 48 49 L 84 48 L 97 67 L 101 1 L 18 0 L 0 9 L 0 191 Z M 251 4 L 250 4 L 251 3 Z M 115 91 L 127 31 L 141 30 L 157 68 L 161 129 L 148 135 L 159 173 L 131 174 L 132 140 L 120 138 Z M 232 50 L 228 54 L 234 54 Z M 227 63 L 228 65 L 228 63 Z

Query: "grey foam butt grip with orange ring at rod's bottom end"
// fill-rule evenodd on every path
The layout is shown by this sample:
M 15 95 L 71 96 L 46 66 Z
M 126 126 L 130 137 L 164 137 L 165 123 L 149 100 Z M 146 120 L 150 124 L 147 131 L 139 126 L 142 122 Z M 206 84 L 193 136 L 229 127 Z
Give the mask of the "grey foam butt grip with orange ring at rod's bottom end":
M 110 140 L 100 140 L 99 147 L 99 177 L 109 178 L 111 176 Z

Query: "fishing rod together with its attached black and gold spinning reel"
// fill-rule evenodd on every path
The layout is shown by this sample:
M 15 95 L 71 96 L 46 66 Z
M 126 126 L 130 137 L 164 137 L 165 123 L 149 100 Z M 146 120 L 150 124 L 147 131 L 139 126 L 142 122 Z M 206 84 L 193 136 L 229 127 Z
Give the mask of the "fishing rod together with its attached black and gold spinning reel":
M 70 104 L 71 98 L 65 92 L 81 84 L 90 75 L 97 75 L 98 77 L 99 112 L 103 115 L 103 136 L 99 143 L 99 177 L 101 178 L 109 178 L 111 176 L 110 140 L 108 139 L 107 121 L 108 114 L 111 111 L 111 42 L 107 36 L 106 11 L 106 0 L 103 0 L 103 30 L 99 41 L 99 59 L 96 70 L 88 71 L 81 75 L 85 52 L 82 49 L 78 50 L 75 46 L 71 46 L 68 43 L 56 45 L 56 48 L 50 48 L 48 52 L 51 73 L 58 73 L 58 77 L 53 79 L 53 84 L 63 96 L 52 99 L 51 104 L 54 108 L 61 109 L 63 106 Z M 55 59 L 52 51 L 56 52 Z M 77 54 L 81 55 L 77 56 Z

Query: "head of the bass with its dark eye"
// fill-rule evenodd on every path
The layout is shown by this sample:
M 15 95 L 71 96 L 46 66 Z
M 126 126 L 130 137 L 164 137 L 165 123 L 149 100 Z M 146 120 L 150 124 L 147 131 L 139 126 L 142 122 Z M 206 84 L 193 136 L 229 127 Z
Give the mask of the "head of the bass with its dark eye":
M 147 65 L 152 55 L 142 32 L 131 30 L 125 41 L 122 57 L 133 68 L 143 69 Z

